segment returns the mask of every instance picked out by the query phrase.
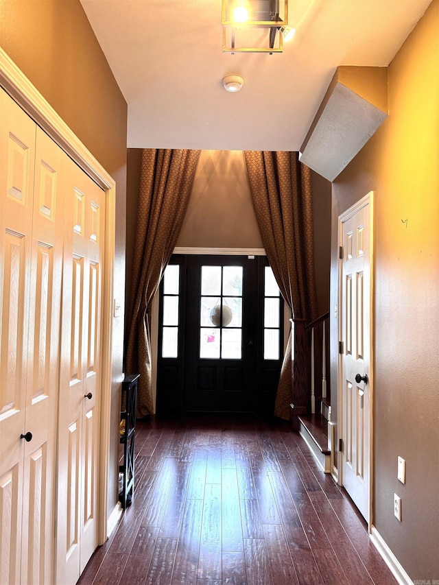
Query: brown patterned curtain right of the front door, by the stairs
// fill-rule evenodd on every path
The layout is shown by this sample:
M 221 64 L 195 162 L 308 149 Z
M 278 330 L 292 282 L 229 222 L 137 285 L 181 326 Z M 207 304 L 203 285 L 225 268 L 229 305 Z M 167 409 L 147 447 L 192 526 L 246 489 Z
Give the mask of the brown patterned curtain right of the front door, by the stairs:
M 298 152 L 246 151 L 248 184 L 268 261 L 296 319 L 318 316 L 314 278 L 311 171 Z M 274 414 L 289 420 L 291 336 L 283 358 Z

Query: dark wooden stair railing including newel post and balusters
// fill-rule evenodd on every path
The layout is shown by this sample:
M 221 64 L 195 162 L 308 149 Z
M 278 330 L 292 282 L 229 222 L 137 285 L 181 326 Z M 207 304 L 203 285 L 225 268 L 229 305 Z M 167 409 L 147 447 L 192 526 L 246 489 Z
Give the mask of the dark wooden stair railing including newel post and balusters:
M 322 398 L 327 398 L 327 320 L 329 312 L 320 315 L 311 323 L 302 319 L 291 319 L 292 324 L 292 404 L 291 425 L 298 431 L 299 416 L 314 414 L 316 411 L 316 356 L 320 348 L 316 337 L 322 335 Z M 322 327 L 320 329 L 320 324 Z M 316 333 L 319 335 L 316 335 Z

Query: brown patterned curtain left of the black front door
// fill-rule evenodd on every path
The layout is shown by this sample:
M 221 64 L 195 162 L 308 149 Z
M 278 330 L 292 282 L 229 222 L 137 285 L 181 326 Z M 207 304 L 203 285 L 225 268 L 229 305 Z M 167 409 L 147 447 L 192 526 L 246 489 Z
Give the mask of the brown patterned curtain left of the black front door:
M 142 152 L 126 348 L 126 373 L 141 374 L 138 417 L 153 414 L 150 307 L 180 234 L 200 152 L 153 148 Z

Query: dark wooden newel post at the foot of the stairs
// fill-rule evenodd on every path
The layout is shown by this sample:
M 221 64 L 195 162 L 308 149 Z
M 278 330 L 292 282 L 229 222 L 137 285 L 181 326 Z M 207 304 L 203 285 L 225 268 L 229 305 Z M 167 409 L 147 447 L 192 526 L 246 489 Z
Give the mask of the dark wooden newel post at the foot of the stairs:
M 292 324 L 292 431 L 299 431 L 299 416 L 309 411 L 310 348 L 305 320 L 291 319 Z

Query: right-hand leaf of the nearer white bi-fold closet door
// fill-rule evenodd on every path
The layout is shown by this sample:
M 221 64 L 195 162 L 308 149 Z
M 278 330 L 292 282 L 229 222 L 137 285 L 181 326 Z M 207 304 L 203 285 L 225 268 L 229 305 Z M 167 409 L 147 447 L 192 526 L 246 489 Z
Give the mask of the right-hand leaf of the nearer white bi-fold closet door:
M 58 367 L 67 156 L 36 132 L 31 294 L 27 339 L 21 582 L 53 582 Z

